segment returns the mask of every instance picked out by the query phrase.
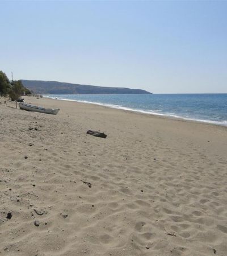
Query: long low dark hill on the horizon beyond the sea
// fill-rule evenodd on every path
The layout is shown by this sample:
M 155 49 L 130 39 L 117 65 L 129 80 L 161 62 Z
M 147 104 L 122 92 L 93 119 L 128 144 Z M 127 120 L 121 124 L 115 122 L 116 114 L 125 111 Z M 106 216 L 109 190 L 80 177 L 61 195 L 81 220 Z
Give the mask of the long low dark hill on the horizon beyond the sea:
M 68 82 L 21 80 L 24 87 L 37 94 L 151 94 L 146 90 L 94 85 L 70 84 Z

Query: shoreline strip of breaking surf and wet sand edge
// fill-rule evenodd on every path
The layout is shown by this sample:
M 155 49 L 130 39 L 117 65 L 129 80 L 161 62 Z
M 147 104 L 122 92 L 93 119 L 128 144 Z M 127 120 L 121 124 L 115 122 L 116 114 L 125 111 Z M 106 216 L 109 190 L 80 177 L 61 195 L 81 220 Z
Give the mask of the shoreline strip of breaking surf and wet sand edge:
M 152 113 L 152 112 L 146 112 L 145 110 L 130 109 L 130 108 L 123 107 L 123 106 L 115 106 L 115 105 L 111 105 L 111 104 L 102 104 L 102 103 L 99 103 L 99 102 L 71 100 L 71 99 L 66 99 L 66 98 L 57 98 L 57 99 L 55 99 L 54 97 L 49 97 L 49 96 L 45 96 L 45 95 L 43 97 L 48 98 L 50 100 L 54 100 L 54 101 L 58 100 L 58 101 L 78 102 L 78 103 L 82 103 L 82 104 L 91 104 L 91 105 L 96 105 L 96 106 L 103 106 L 104 108 L 123 110 L 123 111 L 131 112 L 131 113 L 152 115 L 152 116 L 155 116 L 155 117 L 167 118 L 167 119 L 172 119 L 172 120 L 176 120 L 176 121 L 198 122 L 198 123 L 204 123 L 204 124 L 207 124 L 207 125 L 217 125 L 217 126 L 222 126 L 222 127 L 227 128 L 227 123 L 224 124 L 224 123 L 218 122 L 218 121 L 192 119 L 192 118 L 178 117 L 177 115 L 174 116 L 174 115 L 168 115 L 168 114 Z

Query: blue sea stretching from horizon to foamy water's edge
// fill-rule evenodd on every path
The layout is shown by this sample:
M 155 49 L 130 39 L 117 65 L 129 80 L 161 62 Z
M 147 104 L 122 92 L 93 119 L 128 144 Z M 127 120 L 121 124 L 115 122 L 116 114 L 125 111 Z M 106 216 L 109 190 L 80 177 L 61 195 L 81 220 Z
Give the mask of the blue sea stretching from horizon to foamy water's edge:
M 227 94 L 49 94 L 44 97 L 227 126 Z

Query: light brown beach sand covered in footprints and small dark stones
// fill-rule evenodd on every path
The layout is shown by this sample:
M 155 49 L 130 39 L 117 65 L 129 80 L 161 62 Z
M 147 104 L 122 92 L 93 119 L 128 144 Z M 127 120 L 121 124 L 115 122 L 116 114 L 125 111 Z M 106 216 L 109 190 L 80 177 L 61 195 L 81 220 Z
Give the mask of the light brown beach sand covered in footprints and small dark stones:
M 226 127 L 0 101 L 0 255 L 227 255 Z

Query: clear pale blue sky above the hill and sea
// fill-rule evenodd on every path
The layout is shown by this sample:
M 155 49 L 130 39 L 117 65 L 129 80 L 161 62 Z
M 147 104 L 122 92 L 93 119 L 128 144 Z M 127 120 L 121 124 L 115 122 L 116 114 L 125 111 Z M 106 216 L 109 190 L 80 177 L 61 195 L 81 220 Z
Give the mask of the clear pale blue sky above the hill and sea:
M 14 79 L 227 93 L 226 1 L 1 1 Z

